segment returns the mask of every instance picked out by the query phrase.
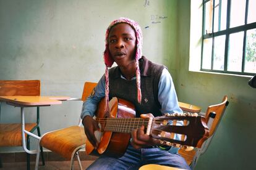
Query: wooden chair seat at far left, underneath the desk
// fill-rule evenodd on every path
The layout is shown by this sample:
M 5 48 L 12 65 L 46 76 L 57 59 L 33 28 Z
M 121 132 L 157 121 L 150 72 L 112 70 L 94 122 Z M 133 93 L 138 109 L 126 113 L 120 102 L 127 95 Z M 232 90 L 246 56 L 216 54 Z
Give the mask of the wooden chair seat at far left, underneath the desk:
M 36 123 L 25 123 L 25 129 L 31 131 Z M 27 137 L 27 134 L 25 134 Z M 0 124 L 0 147 L 22 146 L 22 132 L 20 123 Z

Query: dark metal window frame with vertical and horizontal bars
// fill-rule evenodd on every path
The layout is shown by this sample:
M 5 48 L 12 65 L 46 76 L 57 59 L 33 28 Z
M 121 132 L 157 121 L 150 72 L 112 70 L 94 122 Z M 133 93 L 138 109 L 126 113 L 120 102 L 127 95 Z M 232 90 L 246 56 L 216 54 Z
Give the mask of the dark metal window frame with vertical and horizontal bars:
M 256 22 L 247 24 L 247 17 L 248 17 L 248 9 L 249 9 L 249 0 L 245 0 L 245 24 L 240 26 L 235 26 L 233 28 L 229 28 L 230 26 L 230 12 L 231 12 L 231 0 L 227 0 L 227 14 L 226 14 L 226 30 L 216 31 L 214 32 L 214 20 L 215 20 L 215 0 L 213 1 L 213 14 L 211 19 L 211 30 L 212 33 L 205 34 L 205 4 L 211 0 L 202 0 L 202 6 L 203 6 L 203 18 L 202 18 L 202 49 L 201 49 L 201 62 L 200 62 L 200 71 L 207 71 L 207 72 L 216 72 L 216 73 L 227 73 L 232 75 L 249 75 L 253 76 L 255 73 L 248 73 L 244 72 L 245 68 L 245 47 L 246 47 L 246 37 L 247 37 L 247 30 L 251 30 L 256 28 Z M 219 0 L 221 1 L 221 0 Z M 220 8 L 219 8 L 220 12 Z M 220 17 L 220 15 L 219 15 Z M 220 19 L 218 20 L 220 22 Z M 219 24 L 220 26 L 220 24 Z M 220 30 L 220 29 L 218 29 Z M 244 32 L 244 39 L 243 39 L 243 51 L 242 51 L 242 68 L 241 71 L 228 71 L 228 46 L 229 46 L 229 35 L 233 33 L 238 32 Z M 224 69 L 223 70 L 213 70 L 213 58 L 214 58 L 214 42 L 216 36 L 226 35 L 226 41 L 225 41 L 225 50 L 224 50 Z M 203 40 L 212 38 L 212 44 L 211 44 L 211 69 L 205 69 L 202 68 L 203 66 Z

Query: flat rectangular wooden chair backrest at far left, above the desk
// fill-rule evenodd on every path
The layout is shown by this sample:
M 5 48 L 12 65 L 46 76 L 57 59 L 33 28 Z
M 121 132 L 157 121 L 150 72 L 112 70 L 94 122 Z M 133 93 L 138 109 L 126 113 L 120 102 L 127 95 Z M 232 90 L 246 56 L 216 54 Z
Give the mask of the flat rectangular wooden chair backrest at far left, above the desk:
M 0 80 L 0 96 L 40 95 L 40 80 Z

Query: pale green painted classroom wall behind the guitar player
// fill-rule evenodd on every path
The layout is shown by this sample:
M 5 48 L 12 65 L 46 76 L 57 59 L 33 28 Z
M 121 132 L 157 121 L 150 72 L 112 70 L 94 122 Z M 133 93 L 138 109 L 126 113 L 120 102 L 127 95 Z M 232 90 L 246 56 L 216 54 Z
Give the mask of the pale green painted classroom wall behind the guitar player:
M 85 81 L 103 75 L 106 26 L 121 16 L 142 26 L 143 54 L 168 66 L 180 101 L 205 110 L 228 95 L 223 120 L 196 169 L 255 168 L 256 91 L 247 85 L 249 78 L 188 70 L 189 0 L 0 0 L 0 79 L 40 79 L 41 95 L 80 97 Z M 41 132 L 77 124 L 81 104 L 41 108 Z M 1 123 L 20 121 L 19 108 L 4 104 L 1 111 Z M 25 111 L 27 121 L 33 121 L 35 110 Z

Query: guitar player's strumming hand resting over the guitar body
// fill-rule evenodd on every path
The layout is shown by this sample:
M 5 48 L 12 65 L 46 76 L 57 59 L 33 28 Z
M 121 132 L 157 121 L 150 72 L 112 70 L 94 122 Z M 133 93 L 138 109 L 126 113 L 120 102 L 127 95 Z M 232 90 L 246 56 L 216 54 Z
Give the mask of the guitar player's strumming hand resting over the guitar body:
M 100 130 L 98 123 L 91 116 L 85 116 L 82 123 L 83 128 L 85 129 L 85 135 L 87 136 L 87 139 L 90 141 L 95 149 L 98 148 L 99 142 L 94 134 L 95 131 Z

